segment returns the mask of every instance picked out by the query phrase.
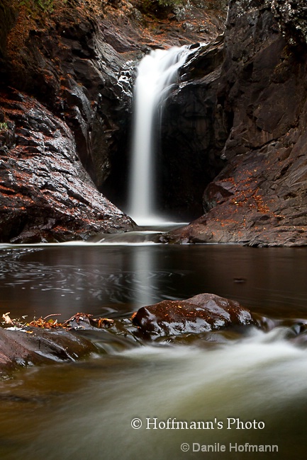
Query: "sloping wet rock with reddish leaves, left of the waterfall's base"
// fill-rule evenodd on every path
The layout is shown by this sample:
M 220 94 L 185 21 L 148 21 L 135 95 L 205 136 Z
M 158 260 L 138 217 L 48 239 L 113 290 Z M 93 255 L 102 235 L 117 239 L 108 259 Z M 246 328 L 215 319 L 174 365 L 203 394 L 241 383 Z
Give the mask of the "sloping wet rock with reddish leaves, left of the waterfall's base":
M 84 239 L 133 228 L 96 190 L 76 153 L 69 127 L 34 98 L 0 97 L 0 241 Z

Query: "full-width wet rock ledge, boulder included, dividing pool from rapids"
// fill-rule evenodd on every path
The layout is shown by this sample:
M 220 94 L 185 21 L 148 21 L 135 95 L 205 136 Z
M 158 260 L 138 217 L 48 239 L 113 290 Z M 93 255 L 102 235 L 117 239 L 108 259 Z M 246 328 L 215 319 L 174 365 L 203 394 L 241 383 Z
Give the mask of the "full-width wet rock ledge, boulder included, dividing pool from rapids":
M 50 315 L 23 323 L 4 314 L 0 327 L 0 378 L 21 367 L 113 355 L 143 345 L 223 346 L 262 330 L 306 347 L 307 320 L 269 318 L 216 294 L 143 306 L 131 318 L 77 313 L 64 323 Z M 270 337 L 270 338 L 269 338 Z

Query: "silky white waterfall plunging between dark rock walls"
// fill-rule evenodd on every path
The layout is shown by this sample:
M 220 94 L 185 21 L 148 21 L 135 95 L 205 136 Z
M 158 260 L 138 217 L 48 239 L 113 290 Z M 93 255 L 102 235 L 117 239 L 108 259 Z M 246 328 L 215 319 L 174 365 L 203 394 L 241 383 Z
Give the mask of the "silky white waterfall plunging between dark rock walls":
M 134 120 L 128 214 L 139 225 L 162 222 L 155 192 L 155 152 L 159 142 L 164 100 L 177 81 L 177 71 L 191 54 L 188 47 L 172 47 L 147 54 L 138 66 L 133 93 Z

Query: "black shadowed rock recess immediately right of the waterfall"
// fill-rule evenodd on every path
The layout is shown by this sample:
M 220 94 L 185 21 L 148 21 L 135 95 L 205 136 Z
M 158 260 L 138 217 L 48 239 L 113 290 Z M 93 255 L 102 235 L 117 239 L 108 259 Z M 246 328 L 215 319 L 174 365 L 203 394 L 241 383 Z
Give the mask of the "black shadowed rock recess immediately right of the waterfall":
M 203 188 L 221 171 L 227 120 L 217 108 L 216 84 L 223 64 L 223 36 L 196 48 L 180 69 L 162 113 L 160 202 L 167 214 L 198 217 Z M 217 125 L 219 129 L 216 129 Z

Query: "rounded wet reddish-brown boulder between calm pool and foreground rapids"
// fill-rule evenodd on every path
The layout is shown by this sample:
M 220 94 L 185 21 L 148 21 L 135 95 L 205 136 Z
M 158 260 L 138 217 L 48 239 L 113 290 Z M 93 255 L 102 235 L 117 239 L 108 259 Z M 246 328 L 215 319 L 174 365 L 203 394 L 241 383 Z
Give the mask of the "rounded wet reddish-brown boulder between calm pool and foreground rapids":
M 133 316 L 133 323 L 141 333 L 160 337 L 255 324 L 250 311 L 237 301 L 214 294 L 199 294 L 187 300 L 165 300 L 143 306 Z

